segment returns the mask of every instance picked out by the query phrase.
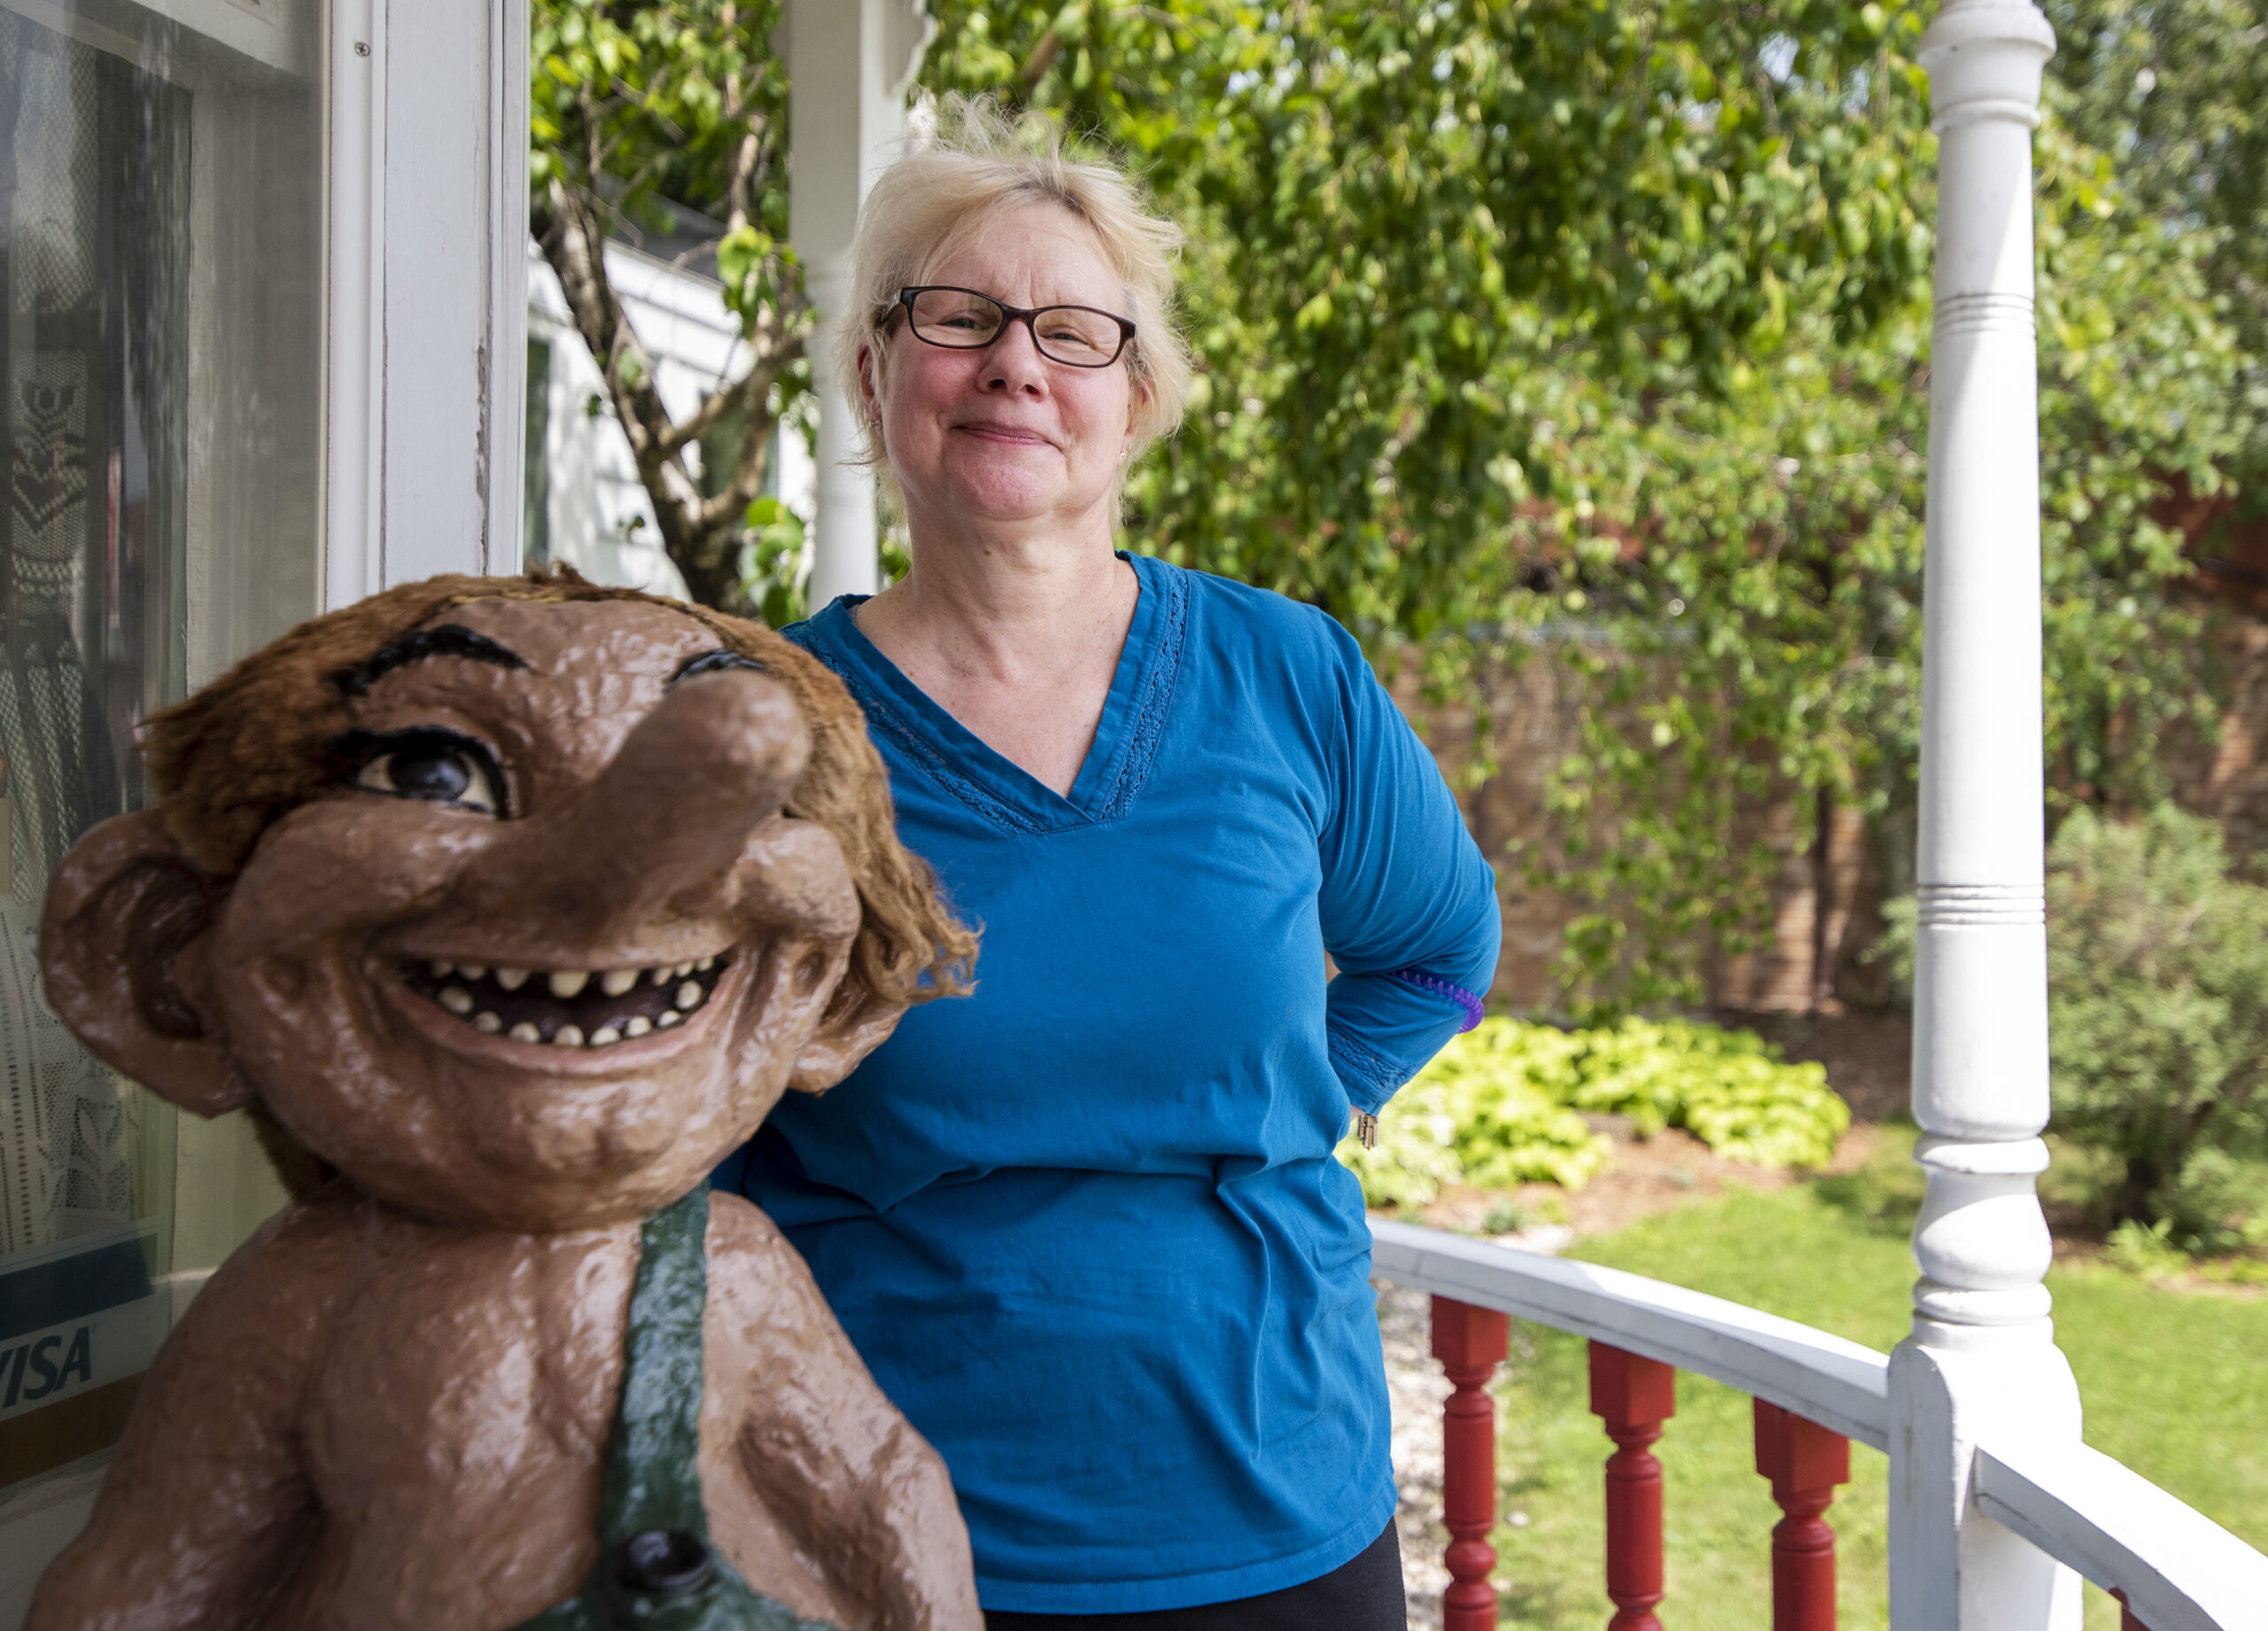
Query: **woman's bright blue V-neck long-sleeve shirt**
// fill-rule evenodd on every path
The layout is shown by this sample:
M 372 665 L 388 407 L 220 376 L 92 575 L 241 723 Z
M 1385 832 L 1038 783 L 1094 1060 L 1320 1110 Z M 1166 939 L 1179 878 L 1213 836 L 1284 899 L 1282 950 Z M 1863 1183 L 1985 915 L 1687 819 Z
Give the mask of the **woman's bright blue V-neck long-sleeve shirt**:
M 1134 556 L 1059 796 L 835 601 L 898 833 L 984 930 L 717 1182 L 810 1261 L 943 1454 L 987 1608 L 1129 1613 L 1327 1574 L 1395 1509 L 1370 1232 L 1331 1159 L 1486 991 L 1497 901 L 1433 758 L 1322 612 Z M 1325 980 L 1322 953 L 1338 962 Z

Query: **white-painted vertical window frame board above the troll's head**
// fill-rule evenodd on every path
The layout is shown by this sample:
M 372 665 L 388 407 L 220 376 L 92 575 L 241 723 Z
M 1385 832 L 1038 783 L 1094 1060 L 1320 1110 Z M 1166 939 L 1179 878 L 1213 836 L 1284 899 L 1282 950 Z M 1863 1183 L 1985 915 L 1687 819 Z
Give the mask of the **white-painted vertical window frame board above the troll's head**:
M 519 569 L 526 0 L 331 0 L 327 608 Z

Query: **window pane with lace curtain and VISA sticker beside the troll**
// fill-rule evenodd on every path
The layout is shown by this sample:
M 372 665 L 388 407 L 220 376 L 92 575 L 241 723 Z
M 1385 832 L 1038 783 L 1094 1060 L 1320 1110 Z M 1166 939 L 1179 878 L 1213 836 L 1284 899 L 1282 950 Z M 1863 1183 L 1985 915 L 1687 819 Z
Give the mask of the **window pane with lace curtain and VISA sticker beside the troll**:
M 141 721 L 315 610 L 318 48 L 313 0 L 0 0 L 0 1488 L 116 1438 L 179 1229 L 243 1209 L 45 1007 L 36 926 L 145 803 Z

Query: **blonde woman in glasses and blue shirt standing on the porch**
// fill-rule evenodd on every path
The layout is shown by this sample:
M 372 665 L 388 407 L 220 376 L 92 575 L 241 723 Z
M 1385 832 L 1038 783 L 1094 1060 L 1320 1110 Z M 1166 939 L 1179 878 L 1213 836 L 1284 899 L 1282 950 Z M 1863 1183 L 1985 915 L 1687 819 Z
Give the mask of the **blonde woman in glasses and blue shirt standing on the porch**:
M 1188 377 L 1177 234 L 957 113 L 875 179 L 837 336 L 912 565 L 787 633 L 982 923 L 978 991 L 719 1182 L 946 1456 L 991 1626 L 1399 1629 L 1331 1150 L 1479 1014 L 1492 880 L 1338 624 L 1114 551 Z

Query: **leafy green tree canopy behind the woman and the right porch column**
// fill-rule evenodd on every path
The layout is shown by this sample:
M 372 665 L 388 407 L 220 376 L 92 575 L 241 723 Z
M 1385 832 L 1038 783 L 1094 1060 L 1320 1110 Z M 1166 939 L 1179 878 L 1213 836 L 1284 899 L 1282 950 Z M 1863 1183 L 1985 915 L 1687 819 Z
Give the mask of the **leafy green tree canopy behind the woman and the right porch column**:
M 934 0 L 925 79 L 1125 154 L 1191 229 L 1191 422 L 1136 547 L 1325 606 L 1436 694 L 1579 681 L 1579 1012 L 1762 928 L 1740 814 L 1910 801 L 1935 138 L 1916 5 Z M 2152 522 L 2243 445 L 2218 243 L 2039 141 L 2048 749 L 2207 719 Z

